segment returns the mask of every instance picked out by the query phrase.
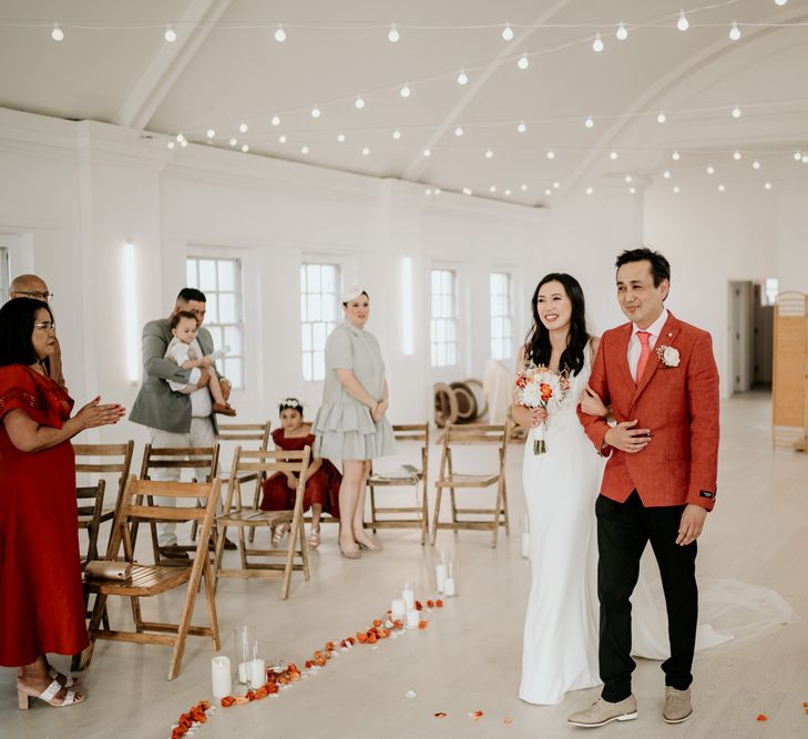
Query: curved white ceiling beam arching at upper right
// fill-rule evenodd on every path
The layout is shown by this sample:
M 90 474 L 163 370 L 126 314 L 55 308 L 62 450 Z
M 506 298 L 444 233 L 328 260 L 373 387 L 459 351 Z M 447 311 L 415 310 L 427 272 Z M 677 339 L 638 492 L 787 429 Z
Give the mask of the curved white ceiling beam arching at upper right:
M 783 14 L 778 14 L 776 20 L 790 22 L 806 21 L 808 20 L 808 14 L 795 10 L 795 12 L 785 18 Z M 775 22 L 775 20 L 773 19 L 771 22 Z M 781 30 L 784 29 L 767 27 L 755 31 L 746 31 L 739 41 L 736 41 L 730 45 L 727 45 L 726 40 L 720 39 L 703 51 L 692 54 L 682 62 L 682 64 L 674 68 L 667 75 L 661 78 L 653 85 L 646 88 L 637 97 L 635 97 L 634 102 L 625 110 L 624 114 L 616 119 L 608 129 L 606 129 L 604 134 L 599 138 L 596 144 L 592 146 L 577 167 L 573 170 L 569 178 L 569 186 L 564 187 L 564 194 L 560 199 L 563 199 L 570 193 L 575 192 L 576 186 L 580 185 L 584 176 L 593 168 L 599 157 L 602 156 L 602 153 L 608 148 L 613 148 L 614 143 L 637 123 L 640 120 L 637 117 L 638 113 L 643 113 L 648 110 L 656 110 L 656 107 L 659 106 L 661 100 L 663 100 L 666 95 L 672 94 L 677 88 L 691 80 L 694 74 L 706 69 L 715 61 L 726 57 L 727 54 L 736 53 L 738 49 L 741 49 L 765 35 Z

